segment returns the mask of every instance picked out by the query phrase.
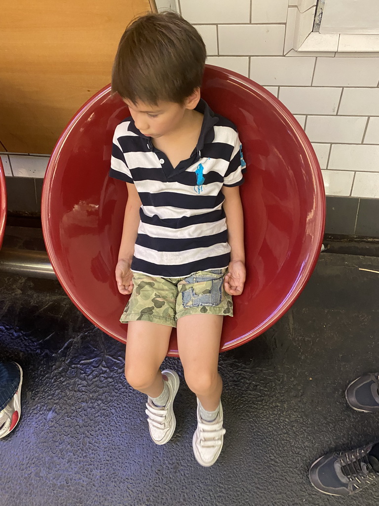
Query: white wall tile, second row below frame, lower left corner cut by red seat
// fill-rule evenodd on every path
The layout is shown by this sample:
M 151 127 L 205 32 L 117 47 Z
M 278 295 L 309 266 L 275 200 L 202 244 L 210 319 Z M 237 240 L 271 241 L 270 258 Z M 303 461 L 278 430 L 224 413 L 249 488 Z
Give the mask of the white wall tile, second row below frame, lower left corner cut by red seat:
M 281 87 L 279 100 L 294 114 L 336 114 L 341 92 L 342 88 Z

